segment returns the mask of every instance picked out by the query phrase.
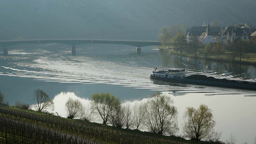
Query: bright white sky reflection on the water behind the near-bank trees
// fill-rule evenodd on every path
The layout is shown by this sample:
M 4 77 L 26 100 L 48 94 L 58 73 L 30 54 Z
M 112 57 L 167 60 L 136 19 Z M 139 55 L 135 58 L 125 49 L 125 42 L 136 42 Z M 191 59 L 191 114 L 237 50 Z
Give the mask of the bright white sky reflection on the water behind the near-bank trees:
M 229 138 L 230 133 L 236 136 L 238 143 L 243 142 L 252 143 L 254 135 L 256 134 L 256 109 L 255 98 L 253 96 L 246 96 L 244 94 L 205 94 L 205 93 L 191 93 L 191 92 L 162 92 L 167 96 L 171 96 L 174 100 L 174 105 L 178 108 L 178 125 L 180 128 L 179 134 L 182 134 L 183 113 L 186 107 L 198 108 L 200 104 L 206 104 L 212 109 L 216 126 L 214 130 L 222 131 L 222 141 Z M 210 95 L 205 96 L 205 95 Z M 53 101 L 55 105 L 54 112 L 57 112 L 60 116 L 66 117 L 65 103 L 68 98 L 78 99 L 85 106 L 90 107 L 90 100 L 86 98 L 80 98 L 74 94 L 74 92 L 61 92 L 57 94 Z M 146 102 L 148 98 L 142 100 L 123 101 L 122 104 L 129 104 L 131 107 L 134 104 L 140 102 Z M 250 110 L 250 112 L 247 112 Z M 92 122 L 102 123 L 102 120 L 98 115 L 94 115 Z M 141 130 L 146 130 L 142 128 Z

